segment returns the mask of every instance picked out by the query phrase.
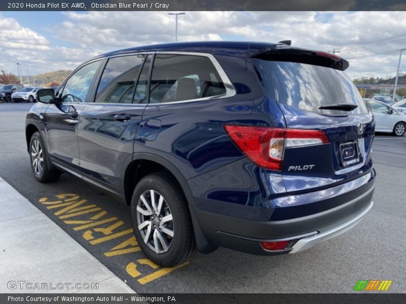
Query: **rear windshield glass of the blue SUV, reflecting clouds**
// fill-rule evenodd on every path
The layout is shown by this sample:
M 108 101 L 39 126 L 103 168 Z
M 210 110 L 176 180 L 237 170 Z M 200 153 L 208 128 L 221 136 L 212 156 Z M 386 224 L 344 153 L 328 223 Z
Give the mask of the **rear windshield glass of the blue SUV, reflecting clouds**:
M 368 112 L 357 88 L 344 71 L 297 62 L 256 58 L 252 62 L 265 93 L 281 103 L 326 115 Z M 358 107 L 351 111 L 319 109 L 337 103 Z

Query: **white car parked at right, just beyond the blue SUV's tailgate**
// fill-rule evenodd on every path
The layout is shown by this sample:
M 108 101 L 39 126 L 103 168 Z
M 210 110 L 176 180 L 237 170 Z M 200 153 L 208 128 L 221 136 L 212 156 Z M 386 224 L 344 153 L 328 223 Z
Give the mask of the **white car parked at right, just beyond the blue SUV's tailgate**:
M 375 131 L 403 136 L 406 131 L 406 115 L 381 101 L 364 99 L 375 118 Z

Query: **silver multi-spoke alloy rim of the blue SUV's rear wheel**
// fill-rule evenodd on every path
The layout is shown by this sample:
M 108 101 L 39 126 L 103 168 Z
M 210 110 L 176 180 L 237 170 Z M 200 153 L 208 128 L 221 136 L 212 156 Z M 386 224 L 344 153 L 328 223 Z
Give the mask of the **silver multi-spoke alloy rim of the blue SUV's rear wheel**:
M 174 239 L 174 222 L 171 209 L 164 197 L 150 189 L 137 204 L 138 230 L 145 244 L 155 253 L 165 253 Z

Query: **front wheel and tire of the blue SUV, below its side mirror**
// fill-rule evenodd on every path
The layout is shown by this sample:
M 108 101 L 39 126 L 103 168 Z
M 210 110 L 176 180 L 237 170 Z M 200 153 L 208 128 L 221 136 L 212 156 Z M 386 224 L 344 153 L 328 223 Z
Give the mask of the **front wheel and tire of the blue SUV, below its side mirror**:
M 56 181 L 62 172 L 48 163 L 47 150 L 39 132 L 32 134 L 29 141 L 29 159 L 31 170 L 40 182 Z

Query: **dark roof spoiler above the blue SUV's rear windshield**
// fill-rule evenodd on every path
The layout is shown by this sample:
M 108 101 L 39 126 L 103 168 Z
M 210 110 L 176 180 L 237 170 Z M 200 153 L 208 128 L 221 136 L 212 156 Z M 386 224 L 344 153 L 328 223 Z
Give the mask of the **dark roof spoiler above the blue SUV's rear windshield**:
M 292 48 L 286 44 L 277 44 L 263 48 L 250 54 L 250 57 L 263 60 L 307 63 L 331 67 L 341 71 L 344 71 L 350 65 L 347 60 L 330 53 Z

